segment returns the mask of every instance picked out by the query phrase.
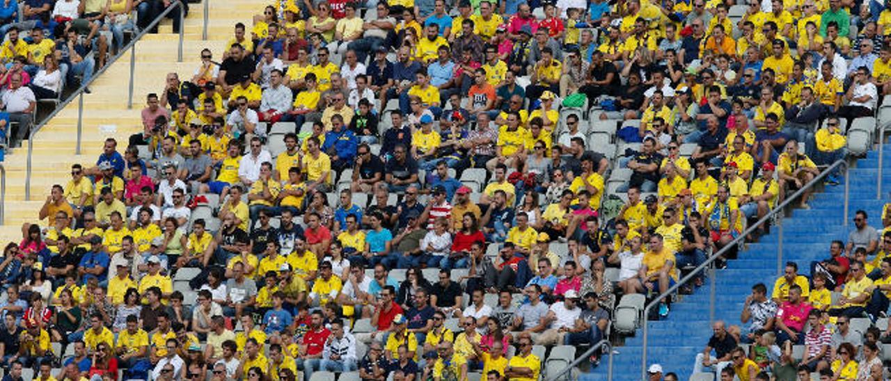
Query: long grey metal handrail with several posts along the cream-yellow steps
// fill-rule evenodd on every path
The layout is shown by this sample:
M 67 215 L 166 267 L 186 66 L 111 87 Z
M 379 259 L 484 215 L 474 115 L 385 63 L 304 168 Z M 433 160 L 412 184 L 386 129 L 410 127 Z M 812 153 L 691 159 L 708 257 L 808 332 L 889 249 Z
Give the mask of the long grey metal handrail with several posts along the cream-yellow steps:
M 59 103 L 59 105 L 56 106 L 56 108 L 53 109 L 53 111 L 50 112 L 50 114 L 47 115 L 46 118 L 44 118 L 44 120 L 42 122 L 40 122 L 40 124 L 38 124 L 34 128 L 31 128 L 31 130 L 29 131 L 29 135 L 28 135 L 28 159 L 27 159 L 26 170 L 25 170 L 25 200 L 26 201 L 30 201 L 30 199 L 31 199 L 31 158 L 34 153 L 34 135 L 36 135 L 44 126 L 46 126 L 46 124 L 49 123 L 50 120 L 53 120 L 53 117 L 55 117 L 56 114 L 61 112 L 61 110 L 65 109 L 65 107 L 67 107 L 69 105 L 69 103 L 74 101 L 75 97 L 79 97 L 80 100 L 78 101 L 79 102 L 79 106 L 78 106 L 78 143 L 75 148 L 75 154 L 79 155 L 80 154 L 81 134 L 82 134 L 81 133 L 81 129 L 82 129 L 82 119 L 81 118 L 83 117 L 83 109 L 84 109 L 84 106 L 83 106 L 84 105 L 84 99 L 83 99 L 84 91 L 86 90 L 87 87 L 89 87 L 89 85 L 92 85 L 93 82 L 96 80 L 96 78 L 101 76 L 102 73 L 105 72 L 105 70 L 109 69 L 112 64 L 114 64 L 116 61 L 118 61 L 118 59 L 122 55 L 124 55 L 124 53 L 127 51 L 127 49 L 130 49 L 130 97 L 129 97 L 128 103 L 132 103 L 132 101 L 133 101 L 133 79 L 134 79 L 133 78 L 133 68 L 135 65 L 134 60 L 135 60 L 136 43 L 139 42 L 143 38 L 143 36 L 147 35 L 149 30 L 158 26 L 160 21 L 164 20 L 164 18 L 167 17 L 168 13 L 172 12 L 174 10 L 174 8 L 179 9 L 180 18 L 181 18 L 180 28 L 179 28 L 179 61 L 180 62 L 183 61 L 183 36 L 184 36 L 183 32 L 185 30 L 185 25 L 184 25 L 185 24 L 185 14 L 184 14 L 185 7 L 183 5 L 183 1 L 184 0 L 176 0 L 173 4 L 170 4 L 170 6 L 168 6 L 167 9 L 164 10 L 164 12 L 161 12 L 158 15 L 158 17 L 155 18 L 155 20 L 151 21 L 151 24 L 149 24 L 148 27 L 143 28 L 143 30 L 141 30 L 136 36 L 134 36 L 133 39 L 130 40 L 130 43 L 127 44 L 127 46 L 125 46 L 123 49 L 121 49 L 118 52 L 118 54 L 111 57 L 110 60 L 105 63 L 105 66 L 103 66 L 101 69 L 96 71 L 94 73 L 93 77 L 90 77 L 89 81 L 87 81 L 86 83 L 80 84 L 80 87 L 78 87 L 77 90 L 75 90 L 73 93 L 71 93 L 68 96 L 68 98 L 65 99 L 65 101 L 61 101 L 61 103 Z M 207 2 L 209 0 L 204 0 L 204 1 Z

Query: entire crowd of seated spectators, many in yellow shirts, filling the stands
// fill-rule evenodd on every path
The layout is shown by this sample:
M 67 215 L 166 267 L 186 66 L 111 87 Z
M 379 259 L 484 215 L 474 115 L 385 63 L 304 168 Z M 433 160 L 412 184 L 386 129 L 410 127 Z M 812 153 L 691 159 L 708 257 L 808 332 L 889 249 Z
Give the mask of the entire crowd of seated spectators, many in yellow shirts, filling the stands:
M 22 5 L 0 7 L 13 141 L 171 3 Z M 71 166 L 4 248 L 4 380 L 538 379 L 846 158 L 891 92 L 885 8 L 277 1 L 169 73 L 143 131 Z M 846 328 L 891 296 L 891 210 L 881 233 L 866 216 L 812 279 L 756 285 L 695 371 L 882 379 L 891 325 Z

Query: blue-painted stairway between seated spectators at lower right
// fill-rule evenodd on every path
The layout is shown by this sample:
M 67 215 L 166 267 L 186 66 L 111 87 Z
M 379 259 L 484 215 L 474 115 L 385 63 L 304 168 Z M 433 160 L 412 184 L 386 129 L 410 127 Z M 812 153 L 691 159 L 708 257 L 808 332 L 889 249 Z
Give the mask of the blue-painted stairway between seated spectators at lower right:
M 782 262 L 798 264 L 798 273 L 809 275 L 810 263 L 829 256 L 830 241 L 847 238 L 848 231 L 854 228 L 850 220 L 858 209 L 870 215 L 871 226 L 881 227 L 881 208 L 891 191 L 891 144 L 884 147 L 882 173 L 883 197 L 876 199 L 876 176 L 879 168 L 878 150 L 871 151 L 866 158 L 857 160 L 850 170 L 850 206 L 848 221 L 842 222 L 844 214 L 845 186 L 829 186 L 812 196 L 811 209 L 796 209 L 791 216 L 782 220 L 783 247 Z M 729 261 L 727 269 L 716 272 L 715 319 L 724 320 L 728 326 L 740 324 L 740 312 L 751 287 L 758 282 L 772 292 L 777 279 L 777 244 L 779 235 L 776 229 L 762 237 L 757 243 L 749 244 L 740 252 L 739 259 Z M 708 304 L 710 281 L 698 288 L 691 296 L 672 306 L 667 320 L 649 322 L 648 366 L 659 363 L 665 372 L 674 372 L 682 380 L 689 379 L 696 354 L 700 353 L 712 335 L 709 323 Z M 642 355 L 642 329 L 635 336 L 627 337 L 624 346 L 616 348 L 613 379 L 616 381 L 639 381 Z M 582 374 L 579 379 L 605 380 L 607 359 L 601 359 L 601 366 L 591 373 Z

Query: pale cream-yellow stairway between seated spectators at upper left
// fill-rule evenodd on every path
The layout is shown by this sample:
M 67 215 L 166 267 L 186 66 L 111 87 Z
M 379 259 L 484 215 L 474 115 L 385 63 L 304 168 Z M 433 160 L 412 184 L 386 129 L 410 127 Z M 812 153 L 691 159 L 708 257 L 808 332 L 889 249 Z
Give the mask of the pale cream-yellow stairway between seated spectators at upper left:
M 209 1 L 209 0 L 204 0 Z M 133 109 L 127 109 L 127 85 L 130 78 L 130 53 L 125 53 L 90 85 L 92 93 L 84 94 L 83 141 L 81 155 L 75 155 L 78 127 L 78 100 L 70 102 L 41 129 L 34 140 L 31 175 L 31 199 L 25 200 L 25 172 L 28 144 L 6 153 L 2 163 L 6 169 L 4 221 L 0 222 L 0 239 L 19 242 L 22 223 L 37 222 L 37 212 L 49 195 L 53 184 L 64 186 L 70 179 L 70 166 L 80 163 L 94 166 L 102 153 L 102 142 L 113 137 L 123 154 L 127 137 L 142 130 L 140 110 L 145 106 L 147 93 L 160 93 L 169 72 L 179 73 L 181 79 L 192 77 L 199 64 L 201 49 L 214 53 L 215 61 L 222 61 L 226 41 L 233 36 L 236 22 L 252 25 L 251 18 L 260 13 L 265 2 L 215 1 L 210 4 L 208 40 L 201 40 L 203 4 L 189 4 L 190 13 L 184 20 L 183 62 L 177 62 L 179 35 L 172 31 L 171 20 L 163 20 L 159 33 L 143 36 L 136 44 Z M 108 132 L 101 126 L 114 126 Z M 46 221 L 41 225 L 46 226 Z

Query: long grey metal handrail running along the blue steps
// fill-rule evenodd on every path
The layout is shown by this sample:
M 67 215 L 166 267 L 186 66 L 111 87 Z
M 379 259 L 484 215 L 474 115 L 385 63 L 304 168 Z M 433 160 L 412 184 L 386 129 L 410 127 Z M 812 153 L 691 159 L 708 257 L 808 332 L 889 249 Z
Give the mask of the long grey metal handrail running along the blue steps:
M 709 257 L 705 263 L 702 263 L 696 269 L 693 269 L 693 271 L 689 272 L 687 274 L 687 276 L 685 276 L 681 280 L 677 281 L 674 284 L 674 286 L 668 288 L 665 292 L 663 292 L 662 294 L 660 294 L 659 296 L 654 298 L 649 304 L 647 304 L 643 308 L 643 344 L 642 344 L 643 348 L 642 348 L 642 353 L 641 353 L 641 379 L 646 379 L 646 375 L 647 375 L 646 374 L 646 372 L 647 372 L 647 339 L 649 338 L 648 335 L 650 334 L 649 327 L 648 327 L 649 324 L 647 324 L 647 323 L 649 321 L 648 318 L 650 317 L 650 310 L 653 308 L 653 306 L 659 304 L 662 299 L 666 298 L 667 296 L 672 295 L 674 293 L 674 291 L 676 291 L 678 288 L 681 288 L 681 286 L 687 284 L 687 282 L 691 281 L 694 277 L 698 276 L 699 272 L 704 271 L 708 265 L 715 262 L 715 260 L 718 259 L 720 257 L 720 255 L 722 255 L 724 252 L 729 250 L 731 247 L 735 247 L 735 246 L 739 245 L 743 239 L 746 239 L 746 237 L 749 234 L 751 234 L 752 232 L 754 232 L 759 226 L 761 226 L 762 224 L 769 221 L 773 217 L 773 215 L 780 213 L 786 206 L 789 205 L 789 203 L 791 203 L 793 200 L 800 197 L 802 195 L 802 193 L 805 192 L 805 190 L 811 189 L 811 187 L 813 187 L 813 185 L 817 184 L 818 182 L 821 182 L 823 177 L 826 177 L 826 175 L 830 174 L 836 168 L 838 168 L 839 166 L 843 166 L 845 164 L 846 164 L 845 158 L 839 158 L 838 160 L 836 160 L 835 163 L 832 163 L 831 166 L 828 166 L 820 174 L 815 176 L 813 178 L 813 180 L 811 180 L 810 182 L 807 182 L 805 185 L 803 185 L 801 187 L 801 189 L 797 190 L 791 196 L 789 196 L 785 200 L 783 200 L 783 202 L 781 202 L 780 205 L 774 207 L 770 211 L 770 213 L 764 215 L 764 217 L 761 217 L 761 219 L 759 219 L 756 223 L 753 223 L 752 225 L 750 225 L 748 227 L 748 229 L 746 229 L 746 231 L 743 231 L 742 233 L 740 233 L 739 237 L 737 237 L 736 239 L 733 239 L 730 243 L 728 243 L 724 247 L 721 247 L 721 249 L 718 250 L 711 257 Z M 847 168 L 845 169 L 845 172 L 846 172 L 846 174 L 845 174 L 845 205 L 847 205 L 847 197 L 848 197 Z M 845 208 L 845 222 L 846 221 L 847 221 L 847 207 Z M 777 225 L 777 230 L 778 230 L 778 233 L 780 234 L 780 244 L 777 245 L 777 272 L 780 273 L 781 269 L 782 269 L 781 268 L 781 265 L 782 265 L 782 224 Z M 714 273 L 712 274 L 711 282 L 712 282 L 711 289 L 710 289 L 710 292 L 711 292 L 710 304 L 711 305 L 709 307 L 709 309 L 710 309 L 709 319 L 714 320 L 715 319 L 715 274 Z

